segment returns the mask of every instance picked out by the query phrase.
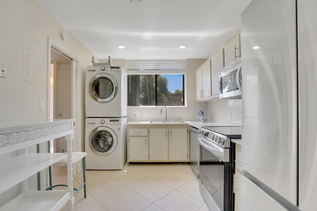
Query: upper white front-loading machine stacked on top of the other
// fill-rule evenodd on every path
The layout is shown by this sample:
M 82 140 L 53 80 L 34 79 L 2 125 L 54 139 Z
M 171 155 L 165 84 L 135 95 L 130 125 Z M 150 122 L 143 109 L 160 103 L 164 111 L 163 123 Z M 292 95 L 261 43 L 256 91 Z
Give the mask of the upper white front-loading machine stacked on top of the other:
M 127 116 L 127 75 L 122 67 L 87 66 L 86 117 Z

